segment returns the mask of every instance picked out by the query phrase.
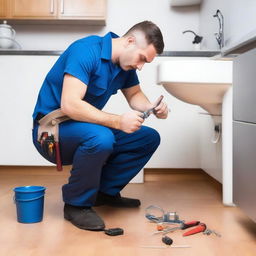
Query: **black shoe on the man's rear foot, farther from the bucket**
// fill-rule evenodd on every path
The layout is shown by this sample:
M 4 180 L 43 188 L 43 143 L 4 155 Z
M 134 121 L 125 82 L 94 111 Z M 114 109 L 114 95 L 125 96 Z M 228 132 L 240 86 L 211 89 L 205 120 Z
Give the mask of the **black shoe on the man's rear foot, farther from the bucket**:
M 94 206 L 100 206 L 100 205 L 133 208 L 133 207 L 140 206 L 140 200 L 121 197 L 120 193 L 118 193 L 115 196 L 111 196 L 102 192 L 98 192 Z

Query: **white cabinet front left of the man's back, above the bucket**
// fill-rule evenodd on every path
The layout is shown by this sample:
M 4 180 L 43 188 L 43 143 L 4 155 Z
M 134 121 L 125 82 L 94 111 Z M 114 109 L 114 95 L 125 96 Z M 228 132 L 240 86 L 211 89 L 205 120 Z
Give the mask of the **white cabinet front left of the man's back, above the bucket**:
M 32 143 L 32 113 L 58 56 L 0 56 L 0 165 L 52 165 Z

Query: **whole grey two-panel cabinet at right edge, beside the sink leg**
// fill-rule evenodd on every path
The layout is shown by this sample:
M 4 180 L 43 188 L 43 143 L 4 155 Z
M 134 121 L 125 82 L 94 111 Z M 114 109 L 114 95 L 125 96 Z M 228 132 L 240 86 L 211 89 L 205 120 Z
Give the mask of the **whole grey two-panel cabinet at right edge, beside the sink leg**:
M 256 222 L 256 48 L 234 60 L 234 202 Z

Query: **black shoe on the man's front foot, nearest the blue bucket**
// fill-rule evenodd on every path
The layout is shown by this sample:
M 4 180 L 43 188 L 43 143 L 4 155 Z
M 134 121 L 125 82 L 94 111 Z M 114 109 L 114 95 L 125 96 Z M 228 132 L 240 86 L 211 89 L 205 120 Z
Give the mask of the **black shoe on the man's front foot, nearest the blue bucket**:
M 81 229 L 98 231 L 105 228 L 104 221 L 90 207 L 65 204 L 64 218 Z

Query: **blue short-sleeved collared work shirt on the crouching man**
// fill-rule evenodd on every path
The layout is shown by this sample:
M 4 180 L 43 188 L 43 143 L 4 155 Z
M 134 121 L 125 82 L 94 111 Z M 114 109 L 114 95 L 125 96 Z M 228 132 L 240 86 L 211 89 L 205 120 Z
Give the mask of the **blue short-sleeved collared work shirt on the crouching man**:
M 86 84 L 83 100 L 102 109 L 111 95 L 119 89 L 139 84 L 135 70 L 124 71 L 111 61 L 112 38 L 110 32 L 104 37 L 89 36 L 75 41 L 59 57 L 47 74 L 40 89 L 33 118 L 38 113 L 48 114 L 60 108 L 63 79 L 66 73 Z

